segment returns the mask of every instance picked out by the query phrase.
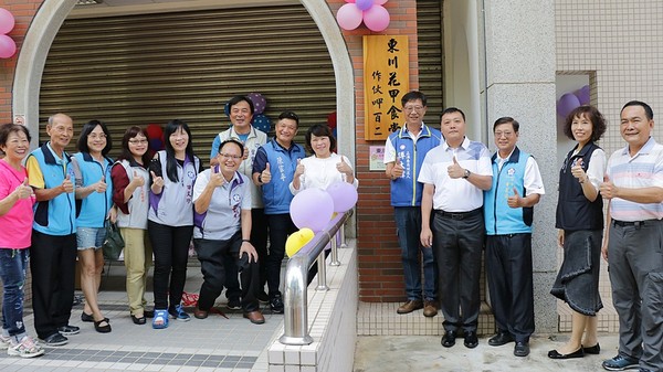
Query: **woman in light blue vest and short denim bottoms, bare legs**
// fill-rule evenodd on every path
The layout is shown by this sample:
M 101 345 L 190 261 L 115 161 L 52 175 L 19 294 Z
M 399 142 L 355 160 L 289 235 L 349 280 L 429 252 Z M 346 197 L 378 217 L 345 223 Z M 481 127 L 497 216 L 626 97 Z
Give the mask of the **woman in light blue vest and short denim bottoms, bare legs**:
M 110 323 L 104 317 L 97 302 L 104 255 L 102 245 L 106 238 L 104 226 L 110 217 L 113 206 L 113 160 L 108 151 L 113 148 L 110 134 L 99 120 L 90 120 L 83 126 L 76 144 L 77 153 L 72 156 L 72 168 L 76 182 L 76 202 L 80 204 L 76 216 L 76 243 L 81 263 L 81 289 L 85 295 L 82 321 L 94 322 L 101 333 L 110 332 Z M 115 210 L 114 210 L 115 212 Z M 115 219 L 115 213 L 113 219 Z

